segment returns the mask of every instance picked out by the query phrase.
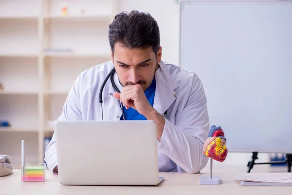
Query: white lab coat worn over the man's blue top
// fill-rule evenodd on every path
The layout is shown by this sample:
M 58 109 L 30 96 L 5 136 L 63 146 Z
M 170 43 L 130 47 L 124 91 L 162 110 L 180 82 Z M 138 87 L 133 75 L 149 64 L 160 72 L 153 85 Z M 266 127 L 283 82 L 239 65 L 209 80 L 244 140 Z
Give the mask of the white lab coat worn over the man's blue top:
M 153 108 L 161 115 L 167 109 L 164 131 L 158 143 L 160 172 L 198 173 L 207 164 L 203 143 L 209 133 L 207 99 L 200 78 L 181 66 L 161 61 L 155 73 Z M 113 68 L 111 61 L 91 67 L 74 81 L 58 120 L 101 120 L 99 91 Z M 117 74 L 115 83 L 122 90 Z M 113 97 L 110 79 L 103 91 L 103 119 L 120 120 L 119 101 Z M 45 161 L 51 172 L 57 165 L 55 134 L 46 148 Z

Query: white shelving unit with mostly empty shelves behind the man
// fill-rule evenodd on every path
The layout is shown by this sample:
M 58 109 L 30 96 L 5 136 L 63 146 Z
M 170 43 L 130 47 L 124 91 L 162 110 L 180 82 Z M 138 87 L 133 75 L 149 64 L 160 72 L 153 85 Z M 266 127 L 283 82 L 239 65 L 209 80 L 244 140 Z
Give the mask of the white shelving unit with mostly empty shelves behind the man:
M 73 81 L 110 60 L 108 25 L 118 0 L 0 1 L 0 154 L 19 168 L 21 139 L 26 161 L 44 162 Z M 67 7 L 63 15 L 62 8 Z

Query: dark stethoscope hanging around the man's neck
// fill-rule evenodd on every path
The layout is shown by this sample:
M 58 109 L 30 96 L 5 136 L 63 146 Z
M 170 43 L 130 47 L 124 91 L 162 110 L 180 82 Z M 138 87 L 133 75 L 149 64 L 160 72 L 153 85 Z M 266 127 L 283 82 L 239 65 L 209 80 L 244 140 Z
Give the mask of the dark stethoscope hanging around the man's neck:
M 108 79 L 110 78 L 110 82 L 112 84 L 112 87 L 114 88 L 114 90 L 117 92 L 117 93 L 121 93 L 119 88 L 117 87 L 117 85 L 115 84 L 114 82 L 114 73 L 115 73 L 115 69 L 113 68 L 110 73 L 108 74 L 108 76 L 105 78 L 105 80 L 103 81 L 102 85 L 101 85 L 101 89 L 100 89 L 100 92 L 99 92 L 99 103 L 100 103 L 100 111 L 101 111 L 101 120 L 103 120 L 103 107 L 102 107 L 102 103 L 103 103 L 103 100 L 102 100 L 102 92 L 103 92 L 103 89 L 108 81 Z M 119 101 L 119 100 L 118 100 Z M 122 110 L 122 116 L 123 116 L 123 119 L 125 119 L 125 116 L 124 116 L 124 106 L 123 106 L 123 103 L 120 102 L 120 107 L 121 107 L 121 110 Z M 167 110 L 164 112 L 163 116 L 166 117 L 166 114 L 167 114 Z

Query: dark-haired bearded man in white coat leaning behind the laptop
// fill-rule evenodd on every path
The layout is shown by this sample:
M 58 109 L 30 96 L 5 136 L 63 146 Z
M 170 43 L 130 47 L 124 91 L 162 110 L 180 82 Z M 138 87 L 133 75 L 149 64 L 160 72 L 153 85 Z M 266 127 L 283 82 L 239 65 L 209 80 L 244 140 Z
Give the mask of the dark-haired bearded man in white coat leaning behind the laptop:
M 109 41 L 112 61 L 93 66 L 76 78 L 58 120 L 154 120 L 159 172 L 201 171 L 208 161 L 202 150 L 209 117 L 200 78 L 161 60 L 159 27 L 147 13 L 133 10 L 116 15 L 109 25 Z M 113 80 L 121 93 L 114 90 L 109 78 L 102 91 L 101 115 L 99 93 L 113 68 Z M 55 134 L 46 148 L 45 161 L 56 174 Z

